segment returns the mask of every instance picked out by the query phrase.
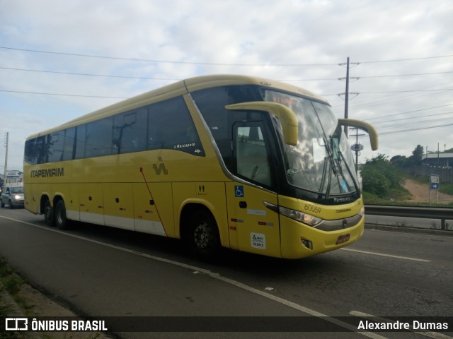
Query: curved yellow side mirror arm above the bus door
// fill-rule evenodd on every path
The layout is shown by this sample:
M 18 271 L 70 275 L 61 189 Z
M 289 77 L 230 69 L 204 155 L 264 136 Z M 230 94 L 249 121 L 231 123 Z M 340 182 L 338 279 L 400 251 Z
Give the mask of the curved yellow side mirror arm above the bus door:
M 283 129 L 283 141 L 288 145 L 297 145 L 299 139 L 299 125 L 297 117 L 291 109 L 278 102 L 253 101 L 226 105 L 226 109 L 234 111 L 265 111 L 273 114 L 280 120 Z

